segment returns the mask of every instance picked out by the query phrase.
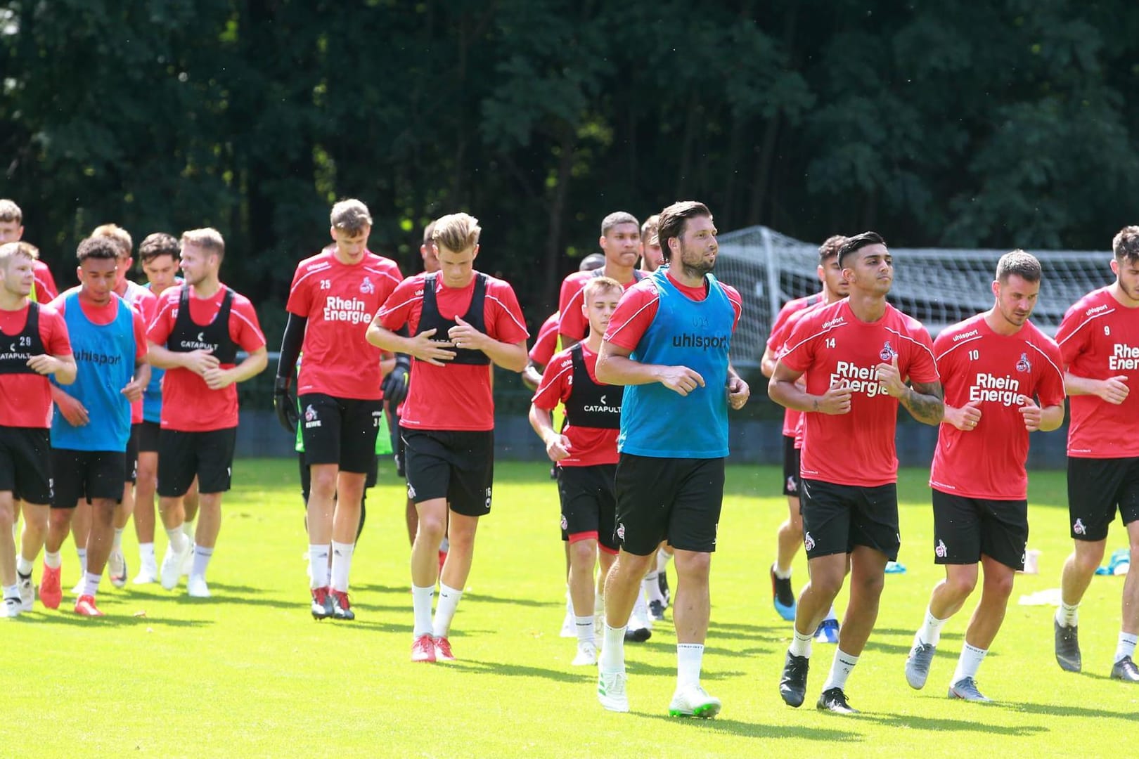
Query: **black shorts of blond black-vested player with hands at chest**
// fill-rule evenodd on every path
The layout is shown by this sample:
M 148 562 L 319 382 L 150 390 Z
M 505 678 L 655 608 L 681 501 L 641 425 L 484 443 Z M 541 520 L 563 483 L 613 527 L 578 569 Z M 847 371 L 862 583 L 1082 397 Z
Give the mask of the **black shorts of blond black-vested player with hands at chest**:
M 407 451 L 408 497 L 416 503 L 446 498 L 465 517 L 491 511 L 494 481 L 494 431 L 413 430 L 402 428 Z

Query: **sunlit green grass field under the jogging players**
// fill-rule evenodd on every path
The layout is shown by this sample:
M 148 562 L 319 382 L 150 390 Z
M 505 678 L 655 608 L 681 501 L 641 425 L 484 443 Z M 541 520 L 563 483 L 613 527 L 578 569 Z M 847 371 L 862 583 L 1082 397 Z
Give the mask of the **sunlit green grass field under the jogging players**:
M 771 608 L 767 568 L 786 513 L 771 468 L 729 468 L 712 569 L 704 684 L 723 700 L 714 721 L 666 716 L 675 677 L 671 621 L 626 647 L 632 712 L 605 712 L 596 671 L 571 668 L 558 637 L 564 610 L 557 495 L 540 464 L 500 464 L 494 511 L 480 530 L 467 594 L 452 629 L 458 661 L 413 665 L 403 492 L 391 468 L 371 490 L 353 566 L 353 624 L 309 616 L 295 463 L 238 461 L 219 550 L 214 597 L 157 585 L 122 591 L 105 579 L 104 619 L 71 612 L 77 578 L 64 548 L 60 611 L 0 625 L 0 753 L 5 756 L 1107 756 L 1139 718 L 1139 688 L 1107 678 L 1122 578 L 1096 578 L 1081 608 L 1085 673 L 1052 657 L 1051 607 L 1021 607 L 1057 587 L 1071 550 L 1060 472 L 1032 476 L 1030 547 L 1039 576 L 1018 576 L 1005 627 L 978 675 L 997 703 L 945 698 L 972 611 L 943 633 L 929 684 L 902 674 L 940 571 L 932 562 L 925 472 L 903 472 L 902 554 L 878 627 L 847 684 L 858 717 L 817 712 L 834 646 L 816 644 L 808 703 L 777 685 L 789 624 Z M 1108 548 L 1125 545 L 1113 527 Z M 137 548 L 126 547 L 132 574 Z M 159 541 L 159 558 L 164 548 Z M 35 578 L 39 579 L 36 567 Z M 671 568 L 670 568 L 671 572 Z M 796 591 L 805 577 L 795 564 Z M 839 616 L 845 594 L 839 596 Z M 671 620 L 671 612 L 670 612 Z

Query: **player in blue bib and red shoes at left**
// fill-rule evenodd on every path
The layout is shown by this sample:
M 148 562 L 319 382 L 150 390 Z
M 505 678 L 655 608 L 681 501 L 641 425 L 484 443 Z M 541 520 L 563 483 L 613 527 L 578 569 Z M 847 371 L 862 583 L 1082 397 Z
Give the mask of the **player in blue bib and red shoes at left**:
M 141 399 L 150 366 L 142 316 L 114 294 L 118 246 L 92 236 L 80 242 L 76 255 L 80 286 L 51 302 L 67 323 L 77 372 L 69 393 L 52 388 L 59 409 L 51 421 L 55 492 L 40 600 L 49 609 L 63 600 L 59 547 L 82 500 L 90 508 L 90 525 L 81 530 L 87 564 L 75 612 L 101 617 L 95 596 L 112 551 L 115 508 L 123 497 L 131 404 Z

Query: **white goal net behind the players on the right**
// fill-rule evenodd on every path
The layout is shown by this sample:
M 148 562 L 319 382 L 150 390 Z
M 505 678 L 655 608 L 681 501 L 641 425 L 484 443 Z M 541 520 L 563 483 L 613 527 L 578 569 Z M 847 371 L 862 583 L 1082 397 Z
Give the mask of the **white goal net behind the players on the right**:
M 720 236 L 715 275 L 744 298 L 744 314 L 732 338 L 737 366 L 755 368 L 768 333 L 787 300 L 819 291 L 819 246 L 749 226 Z M 997 261 L 1007 250 L 891 248 L 894 283 L 890 302 L 919 320 L 933 337 L 951 324 L 992 307 Z M 1068 306 L 1114 281 L 1112 254 L 1101 250 L 1030 250 L 1043 267 L 1036 327 L 1056 333 Z

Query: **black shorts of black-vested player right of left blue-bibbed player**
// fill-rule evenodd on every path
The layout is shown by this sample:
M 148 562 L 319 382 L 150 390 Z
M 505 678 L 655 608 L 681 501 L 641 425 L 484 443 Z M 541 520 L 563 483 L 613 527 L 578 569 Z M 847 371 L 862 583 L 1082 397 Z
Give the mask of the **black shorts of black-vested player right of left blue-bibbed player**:
M 237 428 L 205 432 L 164 429 L 158 434 L 158 496 L 180 498 L 198 478 L 198 493 L 230 486 Z

